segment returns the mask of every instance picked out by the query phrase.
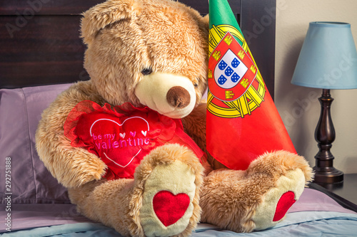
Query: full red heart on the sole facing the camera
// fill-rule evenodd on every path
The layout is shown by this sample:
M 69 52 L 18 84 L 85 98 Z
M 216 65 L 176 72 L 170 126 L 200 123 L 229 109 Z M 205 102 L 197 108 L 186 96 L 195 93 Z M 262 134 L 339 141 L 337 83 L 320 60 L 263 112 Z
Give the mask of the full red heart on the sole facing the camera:
M 171 191 L 159 191 L 153 199 L 156 216 L 164 226 L 170 226 L 185 214 L 190 204 L 187 194 L 172 194 Z

